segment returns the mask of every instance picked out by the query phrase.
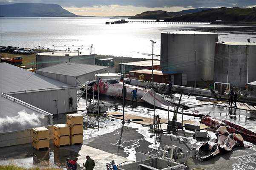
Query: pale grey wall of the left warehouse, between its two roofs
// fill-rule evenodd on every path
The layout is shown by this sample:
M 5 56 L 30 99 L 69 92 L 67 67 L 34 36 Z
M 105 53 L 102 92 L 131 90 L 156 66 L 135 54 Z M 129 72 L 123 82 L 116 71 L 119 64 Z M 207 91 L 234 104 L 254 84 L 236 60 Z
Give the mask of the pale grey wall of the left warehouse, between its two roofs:
M 69 95 L 73 98 L 73 108 L 69 107 Z M 57 107 L 59 114 L 77 111 L 77 88 L 75 87 L 61 90 L 13 94 L 11 96 L 52 114 L 57 114 Z M 57 107 L 55 100 L 58 100 Z

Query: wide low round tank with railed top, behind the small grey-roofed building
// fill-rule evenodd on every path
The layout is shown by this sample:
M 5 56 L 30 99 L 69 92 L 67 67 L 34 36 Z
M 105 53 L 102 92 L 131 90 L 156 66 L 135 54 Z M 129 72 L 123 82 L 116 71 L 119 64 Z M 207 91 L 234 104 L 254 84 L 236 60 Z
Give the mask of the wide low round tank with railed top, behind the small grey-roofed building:
M 36 55 L 37 69 L 69 61 L 80 64 L 95 65 L 95 54 L 91 54 L 88 51 L 81 52 L 62 50 L 37 53 Z

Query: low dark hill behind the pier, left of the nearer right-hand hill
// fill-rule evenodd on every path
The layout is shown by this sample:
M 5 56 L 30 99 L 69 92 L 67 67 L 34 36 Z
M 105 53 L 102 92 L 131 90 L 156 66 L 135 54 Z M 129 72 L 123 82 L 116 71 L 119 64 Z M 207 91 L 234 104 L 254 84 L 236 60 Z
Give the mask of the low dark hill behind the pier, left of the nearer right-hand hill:
M 176 16 L 182 16 L 184 14 L 191 14 L 194 12 L 198 11 L 203 11 L 203 10 L 208 10 L 211 8 L 195 8 L 195 9 L 187 9 L 183 11 L 178 11 L 178 12 L 167 12 L 167 11 L 145 11 L 142 12 L 141 14 L 136 14 L 133 17 L 130 17 L 130 19 L 166 19 L 166 18 L 171 18 L 171 17 L 176 17 Z

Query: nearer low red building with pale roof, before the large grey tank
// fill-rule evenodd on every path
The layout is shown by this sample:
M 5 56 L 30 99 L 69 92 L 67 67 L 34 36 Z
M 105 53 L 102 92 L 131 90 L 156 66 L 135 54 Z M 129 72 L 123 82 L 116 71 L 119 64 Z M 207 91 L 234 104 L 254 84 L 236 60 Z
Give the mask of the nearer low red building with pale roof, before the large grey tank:
M 143 69 L 129 72 L 129 78 L 152 81 L 152 70 Z M 169 83 L 173 85 L 187 85 L 187 74 L 171 71 L 153 70 L 154 82 Z

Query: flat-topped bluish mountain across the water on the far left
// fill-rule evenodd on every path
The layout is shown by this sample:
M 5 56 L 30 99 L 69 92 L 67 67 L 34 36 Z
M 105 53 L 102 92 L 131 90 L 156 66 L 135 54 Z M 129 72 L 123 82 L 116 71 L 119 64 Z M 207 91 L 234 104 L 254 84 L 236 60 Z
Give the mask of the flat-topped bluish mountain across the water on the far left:
M 0 16 L 5 17 L 76 17 L 57 4 L 13 3 L 0 5 Z

